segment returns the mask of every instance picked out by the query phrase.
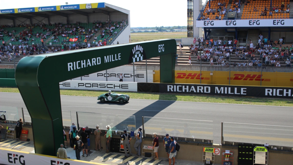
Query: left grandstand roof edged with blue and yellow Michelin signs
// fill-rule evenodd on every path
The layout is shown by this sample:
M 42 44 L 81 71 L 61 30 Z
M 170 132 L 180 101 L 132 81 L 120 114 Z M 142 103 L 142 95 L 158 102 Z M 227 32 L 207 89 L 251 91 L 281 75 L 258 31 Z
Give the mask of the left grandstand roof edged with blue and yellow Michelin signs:
M 71 14 L 88 15 L 89 13 L 103 13 L 109 15 L 110 12 L 121 11 L 125 14 L 130 14 L 129 10 L 119 8 L 114 5 L 102 3 L 91 4 L 76 4 L 76 5 L 58 5 L 46 7 L 32 7 L 32 8 L 14 8 L 14 9 L 1 9 L 0 18 L 13 20 L 16 17 L 29 19 L 33 16 L 40 16 L 49 18 L 51 15 L 67 16 Z

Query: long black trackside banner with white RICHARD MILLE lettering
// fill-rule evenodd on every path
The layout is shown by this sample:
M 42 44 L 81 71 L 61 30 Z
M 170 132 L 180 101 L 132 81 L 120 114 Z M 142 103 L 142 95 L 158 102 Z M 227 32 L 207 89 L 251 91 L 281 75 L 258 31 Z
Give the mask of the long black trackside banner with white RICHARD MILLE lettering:
M 160 93 L 293 98 L 293 88 L 160 83 Z

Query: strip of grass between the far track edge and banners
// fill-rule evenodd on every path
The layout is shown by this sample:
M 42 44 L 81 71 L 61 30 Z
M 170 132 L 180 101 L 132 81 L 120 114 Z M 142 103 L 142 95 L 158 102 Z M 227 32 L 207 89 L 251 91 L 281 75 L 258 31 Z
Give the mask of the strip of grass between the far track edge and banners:
M 0 87 L 0 92 L 19 92 L 17 88 Z M 97 97 L 105 91 L 94 90 L 74 90 L 61 89 L 61 95 L 71 96 L 93 96 Z M 152 100 L 171 100 L 171 101 L 188 101 L 188 102 L 215 102 L 230 104 L 252 104 L 252 105 L 275 105 L 275 106 L 293 106 L 292 99 L 278 98 L 249 98 L 236 96 L 215 96 L 215 95 L 180 95 L 180 94 L 162 94 L 146 92 L 117 92 L 130 96 L 131 99 L 152 99 Z

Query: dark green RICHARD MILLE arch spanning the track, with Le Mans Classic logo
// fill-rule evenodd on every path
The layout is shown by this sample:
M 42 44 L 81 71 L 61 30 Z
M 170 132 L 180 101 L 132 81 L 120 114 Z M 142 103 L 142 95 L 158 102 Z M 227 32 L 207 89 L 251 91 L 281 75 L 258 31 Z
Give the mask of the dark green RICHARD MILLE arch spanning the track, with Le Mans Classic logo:
M 164 55 L 161 74 L 174 83 L 175 54 L 176 41 L 166 39 L 22 58 L 15 81 L 32 118 L 35 152 L 56 156 L 64 143 L 59 82 Z

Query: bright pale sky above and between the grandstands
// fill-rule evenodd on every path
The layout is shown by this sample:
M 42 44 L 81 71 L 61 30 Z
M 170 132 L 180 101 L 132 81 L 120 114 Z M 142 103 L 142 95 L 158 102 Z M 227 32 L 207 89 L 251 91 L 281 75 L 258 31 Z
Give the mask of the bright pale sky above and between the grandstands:
M 33 2 L 33 3 L 31 3 Z M 0 0 L 0 9 L 30 8 L 105 2 L 130 10 L 130 27 L 187 26 L 187 2 L 184 0 Z

